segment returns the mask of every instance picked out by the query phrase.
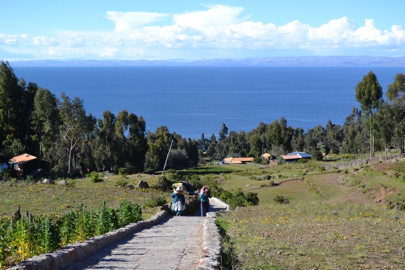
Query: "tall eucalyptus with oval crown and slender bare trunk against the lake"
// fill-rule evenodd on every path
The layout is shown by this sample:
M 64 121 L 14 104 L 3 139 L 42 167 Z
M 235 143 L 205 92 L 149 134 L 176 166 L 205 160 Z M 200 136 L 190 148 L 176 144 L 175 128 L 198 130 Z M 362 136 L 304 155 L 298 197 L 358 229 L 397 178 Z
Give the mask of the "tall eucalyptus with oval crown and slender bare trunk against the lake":
M 378 83 L 376 74 L 370 71 L 363 76 L 363 80 L 355 87 L 356 100 L 360 103 L 361 110 L 368 114 L 368 125 L 370 131 L 370 157 L 374 157 L 374 114 L 382 98 L 382 87 Z

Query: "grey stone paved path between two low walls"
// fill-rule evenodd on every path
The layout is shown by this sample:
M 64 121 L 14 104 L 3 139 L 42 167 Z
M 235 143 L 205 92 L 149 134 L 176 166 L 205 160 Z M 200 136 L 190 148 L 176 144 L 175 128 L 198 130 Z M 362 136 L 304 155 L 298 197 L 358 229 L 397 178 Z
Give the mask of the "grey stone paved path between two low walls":
M 210 212 L 221 209 L 224 209 L 222 205 L 210 201 Z M 159 224 L 144 228 L 63 270 L 196 269 L 204 219 L 199 211 L 192 216 L 168 215 Z

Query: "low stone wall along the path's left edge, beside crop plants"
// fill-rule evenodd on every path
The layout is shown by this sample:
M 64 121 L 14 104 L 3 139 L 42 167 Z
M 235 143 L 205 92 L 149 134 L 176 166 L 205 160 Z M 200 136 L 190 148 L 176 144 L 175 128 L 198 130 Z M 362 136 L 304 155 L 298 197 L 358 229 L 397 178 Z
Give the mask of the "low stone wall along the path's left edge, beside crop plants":
M 137 230 L 158 224 L 166 215 L 166 211 L 159 211 L 156 215 L 152 216 L 148 220 L 131 223 L 107 234 L 89 238 L 84 242 L 76 242 L 64 247 L 63 249 L 32 257 L 8 269 L 60 269 L 61 267 L 64 267 L 70 263 L 86 259 L 88 256 L 96 253 L 107 245 L 111 245 L 121 239 L 124 239 Z

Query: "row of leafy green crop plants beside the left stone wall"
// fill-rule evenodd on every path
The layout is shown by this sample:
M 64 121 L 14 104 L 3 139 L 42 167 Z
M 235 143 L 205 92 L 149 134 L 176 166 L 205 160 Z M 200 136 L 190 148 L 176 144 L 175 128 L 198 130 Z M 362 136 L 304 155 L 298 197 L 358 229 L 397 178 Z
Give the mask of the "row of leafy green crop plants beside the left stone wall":
M 140 206 L 125 199 L 118 211 L 107 207 L 104 201 L 98 215 L 86 211 L 82 203 L 76 211 L 70 210 L 61 217 L 34 217 L 28 212 L 21 215 L 18 210 L 11 219 L 0 218 L 0 269 L 141 219 Z

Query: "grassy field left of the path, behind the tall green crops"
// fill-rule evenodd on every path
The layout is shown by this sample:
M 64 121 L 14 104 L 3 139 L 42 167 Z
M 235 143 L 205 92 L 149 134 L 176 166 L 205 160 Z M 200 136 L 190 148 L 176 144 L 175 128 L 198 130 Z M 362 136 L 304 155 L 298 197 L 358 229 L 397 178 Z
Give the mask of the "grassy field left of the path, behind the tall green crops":
M 59 179 L 61 180 L 61 179 Z M 0 182 L 0 214 L 11 217 L 21 208 L 34 215 L 64 214 L 70 209 L 77 208 L 79 202 L 87 210 L 98 211 L 105 201 L 107 206 L 118 209 L 124 198 L 142 207 L 143 218 L 149 218 L 157 212 L 156 207 L 150 207 L 156 200 L 167 199 L 170 193 L 157 189 L 126 188 L 122 185 L 137 186 L 140 180 L 146 180 L 149 186 L 154 185 L 154 177 L 148 175 L 133 176 L 103 176 L 103 181 L 92 182 L 89 178 L 67 179 L 68 185 L 42 184 L 30 182 Z

